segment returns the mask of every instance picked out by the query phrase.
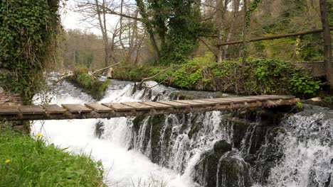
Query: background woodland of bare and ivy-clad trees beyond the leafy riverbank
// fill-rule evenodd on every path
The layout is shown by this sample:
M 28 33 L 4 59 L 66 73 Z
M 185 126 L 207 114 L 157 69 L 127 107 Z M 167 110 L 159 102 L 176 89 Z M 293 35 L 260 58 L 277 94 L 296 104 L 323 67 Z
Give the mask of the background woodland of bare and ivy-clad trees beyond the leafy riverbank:
M 332 26 L 332 1 L 327 3 Z M 322 62 L 324 56 L 322 33 L 250 42 L 245 47 L 243 43 L 218 46 L 320 29 L 319 1 L 314 0 L 86 0 L 78 2 L 76 10 L 101 35 L 65 30 L 64 67 L 90 69 L 115 62 L 181 64 L 195 57 L 202 62 L 241 57 Z

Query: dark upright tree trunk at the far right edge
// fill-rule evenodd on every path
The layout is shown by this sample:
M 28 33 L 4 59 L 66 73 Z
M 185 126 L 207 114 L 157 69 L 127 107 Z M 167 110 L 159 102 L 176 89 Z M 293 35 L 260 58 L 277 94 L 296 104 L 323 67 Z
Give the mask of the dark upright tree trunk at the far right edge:
M 320 16 L 322 17 L 322 29 L 324 36 L 324 64 L 326 79 L 329 81 L 330 91 L 333 91 L 333 64 L 332 64 L 332 38 L 329 29 L 327 1 L 319 0 Z

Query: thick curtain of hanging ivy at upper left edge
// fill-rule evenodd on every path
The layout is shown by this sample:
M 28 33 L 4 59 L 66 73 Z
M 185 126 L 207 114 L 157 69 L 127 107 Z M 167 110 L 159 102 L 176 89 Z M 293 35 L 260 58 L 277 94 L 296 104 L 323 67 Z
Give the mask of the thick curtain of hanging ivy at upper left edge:
M 43 71 L 56 52 L 58 4 L 59 0 L 0 1 L 0 69 L 12 75 L 0 77 L 0 84 L 21 94 L 23 103 L 30 103 L 46 85 Z

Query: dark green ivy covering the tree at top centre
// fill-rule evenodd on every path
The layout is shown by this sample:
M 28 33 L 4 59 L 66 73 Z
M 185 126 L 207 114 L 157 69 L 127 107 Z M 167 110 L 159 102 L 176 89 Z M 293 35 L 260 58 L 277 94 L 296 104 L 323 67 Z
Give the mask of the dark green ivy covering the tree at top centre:
M 161 39 L 162 64 L 186 62 L 198 45 L 199 36 L 214 32 L 210 23 L 200 21 L 199 1 L 137 0 L 137 6 L 148 32 Z

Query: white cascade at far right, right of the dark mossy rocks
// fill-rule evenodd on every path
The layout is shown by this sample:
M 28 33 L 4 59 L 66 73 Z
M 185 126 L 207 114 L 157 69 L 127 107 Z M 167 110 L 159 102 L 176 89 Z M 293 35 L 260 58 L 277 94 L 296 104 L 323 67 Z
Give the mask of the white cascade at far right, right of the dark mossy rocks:
M 285 157 L 271 170 L 269 186 L 332 187 L 333 113 L 293 115 L 281 137 Z

